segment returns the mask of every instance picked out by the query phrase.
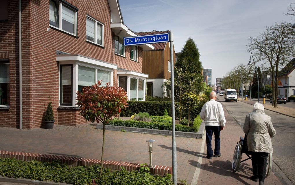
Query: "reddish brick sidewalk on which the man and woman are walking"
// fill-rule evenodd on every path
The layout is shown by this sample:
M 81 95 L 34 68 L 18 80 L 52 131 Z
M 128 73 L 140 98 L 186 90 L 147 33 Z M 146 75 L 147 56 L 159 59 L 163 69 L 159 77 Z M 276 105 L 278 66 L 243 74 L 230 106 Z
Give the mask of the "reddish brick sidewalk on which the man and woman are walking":
M 203 158 L 197 184 L 258 184 L 258 182 L 250 180 L 250 176 L 253 175 L 251 160 L 241 163 L 240 168 L 235 173 L 232 172 L 232 157 L 235 145 L 240 136 L 244 137 L 245 133 L 225 109 L 224 114 L 227 123 L 220 133 L 220 152 L 222 155 L 217 158 L 213 157 L 211 160 Z M 212 139 L 212 146 L 214 146 L 214 139 Z M 205 146 L 204 153 L 206 152 Z M 248 157 L 242 154 L 242 160 L 246 158 Z M 264 184 L 281 184 L 281 182 L 271 172 L 270 176 L 265 179 Z

